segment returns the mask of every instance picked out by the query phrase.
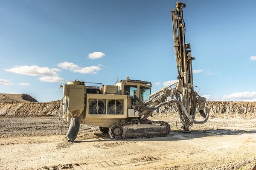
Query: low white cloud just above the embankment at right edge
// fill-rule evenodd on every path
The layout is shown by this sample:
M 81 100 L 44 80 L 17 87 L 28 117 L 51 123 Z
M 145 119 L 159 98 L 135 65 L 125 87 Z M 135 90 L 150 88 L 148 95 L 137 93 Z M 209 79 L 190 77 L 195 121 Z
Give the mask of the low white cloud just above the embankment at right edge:
M 224 95 L 222 97 L 222 99 L 224 100 L 255 100 L 256 99 L 256 91 L 252 91 L 252 92 L 237 92 L 237 93 L 233 93 L 230 95 Z

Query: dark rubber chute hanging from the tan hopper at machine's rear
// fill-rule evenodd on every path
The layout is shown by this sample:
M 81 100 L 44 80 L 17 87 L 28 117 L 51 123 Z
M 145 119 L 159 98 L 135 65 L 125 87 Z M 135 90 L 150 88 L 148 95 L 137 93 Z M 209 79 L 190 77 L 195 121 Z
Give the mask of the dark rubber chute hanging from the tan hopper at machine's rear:
M 69 127 L 69 129 L 67 131 L 67 135 L 66 135 L 68 142 L 73 142 L 76 139 L 76 136 L 79 131 L 79 127 L 80 127 L 80 119 L 72 118 L 70 120 L 70 127 Z

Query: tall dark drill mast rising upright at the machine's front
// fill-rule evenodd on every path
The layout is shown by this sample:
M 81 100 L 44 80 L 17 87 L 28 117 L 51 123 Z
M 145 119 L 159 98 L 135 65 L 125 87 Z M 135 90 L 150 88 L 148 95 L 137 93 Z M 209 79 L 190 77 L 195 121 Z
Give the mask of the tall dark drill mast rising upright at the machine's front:
M 175 58 L 177 63 L 178 79 L 181 80 L 183 85 L 182 100 L 183 105 L 186 110 L 193 115 L 195 105 L 193 105 L 193 100 L 195 96 L 191 95 L 191 90 L 193 91 L 193 73 L 192 73 L 192 59 L 190 43 L 186 44 L 186 26 L 183 20 L 183 8 L 186 7 L 185 3 L 176 3 L 176 8 L 171 10 L 172 13 L 172 27 L 173 27 L 173 39 L 174 39 L 174 49 Z

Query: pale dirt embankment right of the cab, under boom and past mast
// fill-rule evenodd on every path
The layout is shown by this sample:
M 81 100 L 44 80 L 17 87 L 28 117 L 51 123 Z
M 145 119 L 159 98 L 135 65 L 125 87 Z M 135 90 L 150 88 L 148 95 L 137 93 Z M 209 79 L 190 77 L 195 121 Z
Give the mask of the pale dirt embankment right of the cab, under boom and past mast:
M 207 101 L 210 114 L 252 114 L 256 113 L 256 102 Z M 163 106 L 157 113 L 176 113 L 176 105 Z

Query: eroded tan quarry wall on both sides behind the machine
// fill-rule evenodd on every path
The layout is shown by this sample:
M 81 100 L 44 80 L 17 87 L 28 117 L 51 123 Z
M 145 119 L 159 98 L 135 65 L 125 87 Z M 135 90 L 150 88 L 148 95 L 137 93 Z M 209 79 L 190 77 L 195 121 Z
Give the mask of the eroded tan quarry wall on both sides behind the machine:
M 221 102 L 207 101 L 210 114 L 251 114 L 256 113 L 256 102 Z M 0 103 L 0 115 L 6 116 L 57 116 L 60 111 L 59 102 Z M 176 113 L 176 105 L 163 106 L 157 113 Z

